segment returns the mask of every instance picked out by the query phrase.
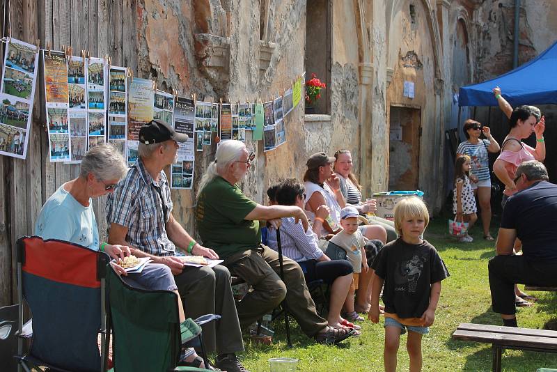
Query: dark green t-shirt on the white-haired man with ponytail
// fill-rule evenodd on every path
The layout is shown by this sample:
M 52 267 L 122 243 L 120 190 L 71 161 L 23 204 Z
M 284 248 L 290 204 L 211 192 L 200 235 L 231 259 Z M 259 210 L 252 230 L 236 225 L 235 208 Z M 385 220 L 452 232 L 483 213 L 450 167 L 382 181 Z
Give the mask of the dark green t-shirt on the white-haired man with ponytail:
M 240 187 L 217 176 L 199 194 L 196 207 L 198 233 L 203 246 L 212 248 L 220 258 L 259 246 L 258 221 L 244 219 L 257 203 Z

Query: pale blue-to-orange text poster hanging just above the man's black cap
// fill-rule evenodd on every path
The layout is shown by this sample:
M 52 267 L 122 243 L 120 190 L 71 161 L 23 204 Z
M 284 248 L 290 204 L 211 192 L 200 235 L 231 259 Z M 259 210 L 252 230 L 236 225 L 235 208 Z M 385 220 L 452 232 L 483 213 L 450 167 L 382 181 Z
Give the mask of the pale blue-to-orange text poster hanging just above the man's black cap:
M 154 84 L 148 79 L 132 78 L 127 95 L 127 163 L 136 162 L 139 128 L 152 121 L 155 104 Z

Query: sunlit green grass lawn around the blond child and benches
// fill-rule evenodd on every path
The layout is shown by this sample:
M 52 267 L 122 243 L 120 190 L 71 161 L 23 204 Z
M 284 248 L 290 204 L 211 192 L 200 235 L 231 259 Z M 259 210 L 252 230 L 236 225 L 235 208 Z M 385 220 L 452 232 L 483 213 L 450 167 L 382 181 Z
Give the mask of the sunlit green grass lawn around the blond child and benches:
M 499 226 L 499 221 L 492 222 Z M 496 228 L 492 227 L 492 232 Z M 450 335 L 459 323 L 502 325 L 499 314 L 492 312 L 487 279 L 487 261 L 494 256 L 494 242 L 482 239 L 479 226 L 473 228 L 472 243 L 458 243 L 447 233 L 447 218 L 437 217 L 430 222 L 425 239 L 441 254 L 450 272 L 442 282 L 441 299 L 430 334 L 422 341 L 423 371 L 491 371 L 490 344 L 453 341 Z M 520 308 L 517 313 L 520 327 L 542 328 L 549 320 L 556 320 L 557 300 L 554 293 L 535 293 L 539 301 L 533 307 Z M 272 357 L 295 357 L 300 360 L 298 371 L 383 371 L 383 318 L 379 324 L 369 320 L 361 323 L 358 338 L 340 346 L 313 343 L 290 322 L 294 348 L 288 350 L 284 322 L 272 324 L 276 331 L 272 346 L 246 342 L 242 355 L 244 366 L 252 372 L 269 371 L 267 360 Z M 292 323 L 294 326 L 292 327 Z M 401 337 L 398 370 L 408 371 L 409 359 L 405 349 L 406 335 Z M 557 356 L 538 352 L 506 350 L 503 352 L 503 371 L 536 371 L 540 367 L 557 368 Z

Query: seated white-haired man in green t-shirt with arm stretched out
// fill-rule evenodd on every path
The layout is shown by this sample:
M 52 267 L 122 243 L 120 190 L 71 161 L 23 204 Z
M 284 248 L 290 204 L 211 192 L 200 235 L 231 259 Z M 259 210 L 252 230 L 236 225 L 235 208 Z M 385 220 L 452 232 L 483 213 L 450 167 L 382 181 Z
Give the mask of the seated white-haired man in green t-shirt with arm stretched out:
M 299 265 L 283 258 L 284 281 L 278 277 L 278 254 L 261 244 L 259 220 L 277 223 L 282 217 L 308 219 L 297 206 L 262 206 L 244 195 L 237 183 L 244 178 L 255 158 L 241 141 L 223 141 L 201 179 L 197 196 L 196 222 L 203 244 L 212 247 L 233 275 L 246 281 L 253 291 L 236 304 L 242 329 L 269 313 L 284 299 L 301 330 L 318 342 L 336 343 L 352 330 L 336 330 L 317 315 L 304 273 Z M 279 222 L 278 222 L 279 223 Z

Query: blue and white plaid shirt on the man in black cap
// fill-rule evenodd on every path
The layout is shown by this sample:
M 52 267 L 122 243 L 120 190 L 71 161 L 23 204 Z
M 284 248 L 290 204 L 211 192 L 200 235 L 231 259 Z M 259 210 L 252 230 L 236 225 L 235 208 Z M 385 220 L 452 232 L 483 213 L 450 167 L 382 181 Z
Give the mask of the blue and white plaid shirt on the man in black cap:
M 107 197 L 109 226 L 127 227 L 126 241 L 154 256 L 171 256 L 175 252 L 174 243 L 166 235 L 171 212 L 170 188 L 164 171 L 160 173 L 159 183 L 155 183 L 141 158 Z

